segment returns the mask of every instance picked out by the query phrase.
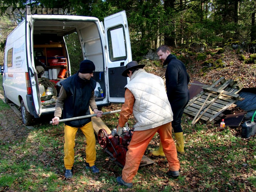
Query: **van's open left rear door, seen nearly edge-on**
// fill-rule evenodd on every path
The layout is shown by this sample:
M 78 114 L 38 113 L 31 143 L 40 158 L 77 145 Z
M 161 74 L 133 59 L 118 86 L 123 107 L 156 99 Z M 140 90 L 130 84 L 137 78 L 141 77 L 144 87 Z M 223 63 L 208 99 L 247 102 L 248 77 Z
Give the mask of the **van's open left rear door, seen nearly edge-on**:
M 40 95 L 39 95 L 39 89 L 38 89 L 38 79 L 37 79 L 37 73 L 36 73 L 36 68 L 35 65 L 32 63 L 33 62 L 33 42 L 32 42 L 32 35 L 33 35 L 33 29 L 32 29 L 32 15 L 31 14 L 26 14 L 26 49 L 27 49 L 27 66 L 28 66 L 28 76 L 30 77 L 29 79 L 26 79 L 27 81 L 30 81 L 30 87 L 31 87 L 31 96 L 32 96 L 32 102 L 31 98 L 29 98 L 29 95 L 27 95 L 27 105 L 29 108 L 30 113 L 34 111 L 34 116 L 35 117 L 40 117 L 41 115 L 41 100 L 40 100 Z M 26 78 L 28 78 L 26 75 Z M 27 82 L 28 83 L 28 82 Z M 28 88 L 27 88 L 28 89 Z M 25 98 L 23 98 L 24 100 Z

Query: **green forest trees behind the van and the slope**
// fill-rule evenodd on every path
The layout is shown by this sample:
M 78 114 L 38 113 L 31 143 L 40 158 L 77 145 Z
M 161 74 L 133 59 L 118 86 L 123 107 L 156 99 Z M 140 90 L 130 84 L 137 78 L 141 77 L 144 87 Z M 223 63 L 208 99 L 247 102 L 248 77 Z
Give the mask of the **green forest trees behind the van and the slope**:
M 93 16 L 103 22 L 104 17 L 125 10 L 132 58 L 138 61 L 161 44 L 188 48 L 197 42 L 216 48 L 231 37 L 241 44 L 256 39 L 255 0 L 1 0 L 0 4 L 0 65 L 6 37 L 24 20 L 21 12 L 26 5 L 61 8 L 68 10 L 66 14 Z

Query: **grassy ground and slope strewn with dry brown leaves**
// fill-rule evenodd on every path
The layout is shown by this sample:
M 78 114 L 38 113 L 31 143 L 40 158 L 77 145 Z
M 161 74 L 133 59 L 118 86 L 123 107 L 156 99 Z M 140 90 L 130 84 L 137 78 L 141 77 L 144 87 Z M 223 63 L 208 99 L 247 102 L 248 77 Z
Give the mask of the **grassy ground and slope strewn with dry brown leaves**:
M 253 64 L 243 64 L 231 51 L 214 59 L 220 57 L 226 60 L 227 66 L 207 74 L 200 72 L 203 61 L 189 58 L 190 82 L 197 80 L 212 84 L 225 75 L 226 79 L 239 79 L 245 87 L 255 87 Z M 165 69 L 158 63 L 141 62 L 146 63 L 148 72 L 164 79 Z M 2 90 L 0 92 L 3 94 Z M 121 106 L 112 104 L 103 110 L 117 110 Z M 116 177 L 122 174 L 122 169 L 109 160 L 98 142 L 96 165 L 100 173 L 92 174 L 85 169 L 86 139 L 80 131 L 76 136 L 75 174 L 72 179 L 65 180 L 63 124 L 49 125 L 51 118 L 43 116 L 34 129 L 28 129 L 0 100 L 0 191 L 256 191 L 255 137 L 241 138 L 240 127 L 226 127 L 220 132 L 218 125 L 214 124 L 198 122 L 191 126 L 191 117 L 184 115 L 182 126 L 186 153 L 178 155 L 180 177 L 168 178 L 166 159 L 149 154 L 150 149 L 158 148 L 159 137 L 156 134 L 145 152 L 156 163 L 140 167 L 133 180 L 133 188 L 128 189 L 116 184 Z M 111 114 L 102 120 L 112 129 L 116 127 L 118 118 L 119 114 Z M 131 117 L 129 124 L 133 123 Z

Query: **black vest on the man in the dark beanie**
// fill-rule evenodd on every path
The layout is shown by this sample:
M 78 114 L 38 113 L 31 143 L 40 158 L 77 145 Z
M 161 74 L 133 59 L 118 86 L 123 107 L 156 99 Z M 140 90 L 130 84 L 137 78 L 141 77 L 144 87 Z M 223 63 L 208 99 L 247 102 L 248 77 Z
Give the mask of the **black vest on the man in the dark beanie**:
M 96 81 L 92 78 L 90 80 L 81 79 L 77 72 L 61 82 L 61 85 L 67 93 L 63 105 L 63 118 L 90 115 L 90 98 L 96 87 Z M 64 123 L 71 127 L 82 127 L 90 121 L 92 121 L 91 117 Z

